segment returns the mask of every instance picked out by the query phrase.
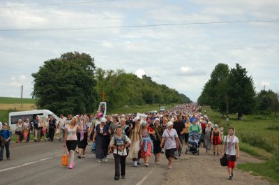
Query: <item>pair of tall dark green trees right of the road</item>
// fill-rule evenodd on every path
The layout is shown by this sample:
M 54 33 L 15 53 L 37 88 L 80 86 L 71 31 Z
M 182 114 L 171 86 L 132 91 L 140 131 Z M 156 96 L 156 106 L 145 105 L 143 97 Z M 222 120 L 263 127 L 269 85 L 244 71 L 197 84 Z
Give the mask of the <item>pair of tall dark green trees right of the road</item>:
M 204 84 L 198 103 L 210 105 L 221 113 L 250 114 L 255 108 L 255 87 L 246 68 L 236 64 L 229 71 L 227 64 L 218 64 L 211 73 L 211 79 Z

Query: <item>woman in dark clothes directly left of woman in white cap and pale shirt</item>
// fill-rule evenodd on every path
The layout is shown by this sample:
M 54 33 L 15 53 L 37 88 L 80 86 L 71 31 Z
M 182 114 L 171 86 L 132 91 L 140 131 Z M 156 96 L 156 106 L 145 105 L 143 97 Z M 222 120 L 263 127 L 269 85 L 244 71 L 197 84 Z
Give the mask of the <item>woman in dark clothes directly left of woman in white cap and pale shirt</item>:
M 155 163 L 158 165 L 160 163 L 160 153 L 162 151 L 160 147 L 160 143 L 162 141 L 162 135 L 163 135 L 163 127 L 160 126 L 160 119 L 156 118 L 153 125 L 153 130 L 155 131 L 155 137 L 153 140 L 153 154 L 155 156 Z

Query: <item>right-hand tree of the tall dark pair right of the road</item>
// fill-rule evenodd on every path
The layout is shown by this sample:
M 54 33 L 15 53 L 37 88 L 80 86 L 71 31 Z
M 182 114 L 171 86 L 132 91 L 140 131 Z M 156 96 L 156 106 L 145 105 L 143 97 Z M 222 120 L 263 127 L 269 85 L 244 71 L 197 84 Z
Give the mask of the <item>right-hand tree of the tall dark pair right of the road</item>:
M 246 68 L 236 64 L 236 67 L 231 69 L 227 80 L 229 112 L 238 113 L 238 119 L 242 119 L 243 114 L 252 113 L 256 105 L 254 82 L 247 73 Z

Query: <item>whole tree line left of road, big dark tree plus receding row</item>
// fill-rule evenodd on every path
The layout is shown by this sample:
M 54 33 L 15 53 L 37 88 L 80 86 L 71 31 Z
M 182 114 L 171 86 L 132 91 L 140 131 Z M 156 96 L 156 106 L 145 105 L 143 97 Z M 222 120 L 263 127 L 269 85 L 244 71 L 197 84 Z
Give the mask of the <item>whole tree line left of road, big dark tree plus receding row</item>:
M 36 106 L 55 113 L 90 113 L 98 108 L 101 92 L 105 92 L 108 108 L 124 105 L 190 103 L 190 98 L 151 77 L 137 77 L 121 70 L 96 68 L 86 53 L 67 52 L 45 61 L 34 78 L 33 98 Z

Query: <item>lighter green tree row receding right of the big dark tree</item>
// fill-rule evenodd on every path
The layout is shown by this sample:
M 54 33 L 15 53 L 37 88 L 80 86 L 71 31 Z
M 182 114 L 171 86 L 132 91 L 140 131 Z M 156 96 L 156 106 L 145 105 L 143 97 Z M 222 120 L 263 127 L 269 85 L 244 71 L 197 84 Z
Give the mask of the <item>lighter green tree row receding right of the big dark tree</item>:
M 165 84 L 157 84 L 151 77 L 144 75 L 142 79 L 124 70 L 104 71 L 96 69 L 98 84 L 96 91 L 105 91 L 108 108 L 122 108 L 125 105 L 190 103 L 190 98 L 169 89 Z M 101 97 L 98 96 L 98 101 Z

